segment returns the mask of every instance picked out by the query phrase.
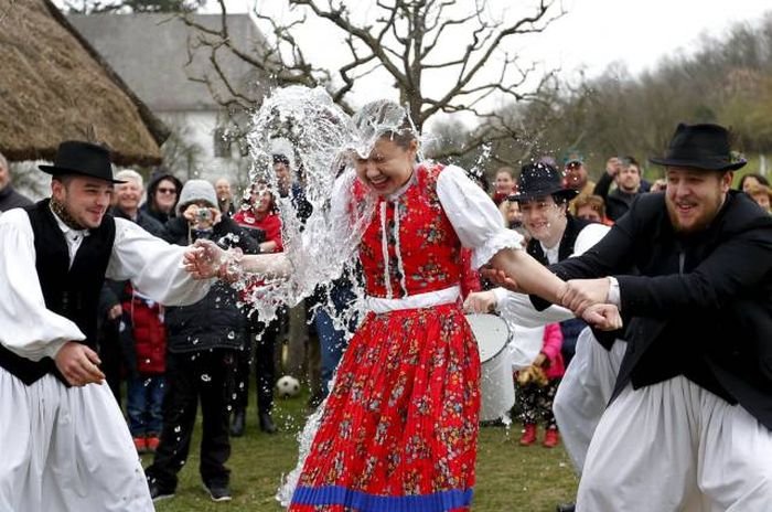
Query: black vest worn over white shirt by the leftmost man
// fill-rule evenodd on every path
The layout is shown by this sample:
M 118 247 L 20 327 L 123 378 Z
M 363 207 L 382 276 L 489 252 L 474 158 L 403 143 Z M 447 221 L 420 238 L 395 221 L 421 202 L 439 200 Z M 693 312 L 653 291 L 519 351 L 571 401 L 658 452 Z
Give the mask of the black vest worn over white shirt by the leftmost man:
M 75 254 L 73 266 L 69 267 L 67 241 L 51 212 L 49 200 L 25 210 L 34 234 L 35 267 L 45 307 L 75 322 L 86 335 L 82 343 L 94 349 L 97 335 L 97 306 L 112 253 L 115 220 L 105 215 L 101 225 L 90 230 L 89 236 L 83 239 Z M 51 358 L 32 361 L 0 345 L 0 366 L 26 385 L 46 373 L 53 373 L 67 384 Z

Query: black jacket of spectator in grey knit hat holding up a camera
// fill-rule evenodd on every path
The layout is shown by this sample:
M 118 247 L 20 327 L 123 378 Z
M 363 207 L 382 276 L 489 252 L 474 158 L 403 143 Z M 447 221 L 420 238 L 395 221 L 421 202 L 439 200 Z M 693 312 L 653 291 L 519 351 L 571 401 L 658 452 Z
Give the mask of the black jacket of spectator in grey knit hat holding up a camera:
M 187 221 L 175 217 L 167 223 L 169 242 L 190 245 L 206 236 L 217 245 L 240 247 L 246 254 L 259 252 L 257 242 L 230 217 L 223 216 L 210 234 L 189 232 Z M 216 281 L 206 297 L 190 306 L 168 307 L 165 313 L 169 352 L 199 352 L 208 349 L 238 349 L 244 343 L 244 313 L 238 292 L 230 285 Z

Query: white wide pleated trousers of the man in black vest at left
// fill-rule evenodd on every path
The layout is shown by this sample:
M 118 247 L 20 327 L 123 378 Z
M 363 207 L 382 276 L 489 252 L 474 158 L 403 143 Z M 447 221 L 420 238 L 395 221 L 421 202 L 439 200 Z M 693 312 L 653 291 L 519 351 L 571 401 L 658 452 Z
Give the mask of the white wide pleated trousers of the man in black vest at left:
M 31 386 L 0 367 L 0 512 L 154 510 L 106 384 Z

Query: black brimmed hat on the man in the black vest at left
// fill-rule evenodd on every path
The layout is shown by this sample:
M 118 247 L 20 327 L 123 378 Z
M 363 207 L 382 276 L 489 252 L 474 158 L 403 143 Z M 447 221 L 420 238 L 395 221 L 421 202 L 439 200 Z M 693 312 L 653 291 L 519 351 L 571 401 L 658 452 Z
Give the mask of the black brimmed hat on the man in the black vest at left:
M 110 183 L 125 183 L 112 178 L 110 151 L 104 146 L 78 140 L 67 140 L 58 145 L 53 166 L 39 166 L 40 170 L 53 175 L 78 174 Z

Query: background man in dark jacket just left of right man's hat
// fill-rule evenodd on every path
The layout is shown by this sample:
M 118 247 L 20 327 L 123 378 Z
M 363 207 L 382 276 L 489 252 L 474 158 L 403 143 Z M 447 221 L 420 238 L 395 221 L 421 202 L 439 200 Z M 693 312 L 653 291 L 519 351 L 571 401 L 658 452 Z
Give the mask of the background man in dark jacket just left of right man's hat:
M 611 182 L 616 183 L 616 189 L 609 192 Z M 594 194 L 605 201 L 605 216 L 614 222 L 628 213 L 632 202 L 642 192 L 641 164 L 633 157 L 610 158 L 594 190 Z

